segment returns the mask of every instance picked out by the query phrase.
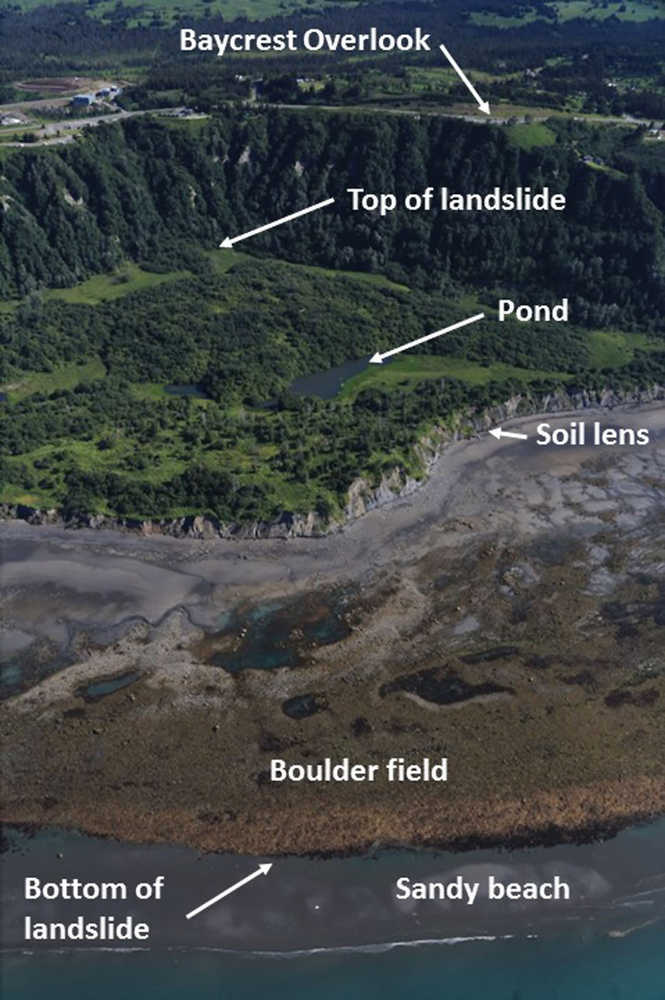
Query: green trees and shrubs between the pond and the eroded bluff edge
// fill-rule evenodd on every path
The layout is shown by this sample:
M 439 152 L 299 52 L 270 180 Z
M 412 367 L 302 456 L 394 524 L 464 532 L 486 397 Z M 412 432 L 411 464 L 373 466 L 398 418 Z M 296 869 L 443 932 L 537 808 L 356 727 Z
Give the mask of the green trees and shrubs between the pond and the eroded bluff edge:
M 665 352 L 650 353 L 618 371 L 582 373 L 568 388 L 627 389 L 664 379 Z M 3 427 L 5 476 L 54 497 L 67 514 L 208 513 L 223 522 L 314 508 L 329 515 L 356 476 L 377 482 L 396 465 L 417 469 L 413 446 L 428 424 L 514 393 L 536 399 L 556 388 L 555 381 L 527 389 L 514 380 L 470 386 L 446 378 L 392 392 L 367 389 L 352 403 L 287 396 L 269 411 L 141 401 L 127 383 L 107 378 L 14 404 Z M 111 456 L 81 460 L 81 445 Z M 30 457 L 39 448 L 43 457 Z

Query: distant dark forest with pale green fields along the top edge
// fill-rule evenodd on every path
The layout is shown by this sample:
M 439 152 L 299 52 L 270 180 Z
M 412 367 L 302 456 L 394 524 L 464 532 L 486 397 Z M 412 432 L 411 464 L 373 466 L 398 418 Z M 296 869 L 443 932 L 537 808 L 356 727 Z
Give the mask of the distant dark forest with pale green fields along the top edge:
M 299 0 L 278 0 L 269 16 L 272 0 L 247 4 L 242 0 L 223 3 L 199 3 L 183 0 L 171 6 L 170 0 L 147 0 L 145 3 L 113 4 L 87 0 L 86 3 L 57 2 L 54 4 L 23 0 L 21 4 L 6 3 L 0 7 L 0 46 L 3 60 L 0 83 L 16 74 L 51 75 L 110 65 L 150 64 L 153 60 L 168 62 L 178 58 L 177 30 L 195 24 L 203 31 L 301 31 L 313 23 L 324 30 L 366 31 L 376 26 L 379 31 L 408 31 L 414 24 L 444 40 L 455 38 L 456 50 L 468 61 L 482 67 L 496 65 L 498 60 L 510 60 L 518 66 L 532 65 L 553 55 L 594 52 L 603 47 L 625 51 L 647 51 L 657 58 L 662 45 L 665 25 L 658 5 L 646 4 L 638 18 L 631 16 L 633 4 L 619 5 L 603 0 L 600 9 L 591 12 L 589 5 L 572 0 L 553 4 L 546 0 L 411 0 L 410 3 L 341 2 L 336 5 L 300 3 Z M 160 9 L 161 8 L 161 9 Z M 248 14 L 249 10 L 253 13 Z M 278 8 L 276 10 L 275 8 Z M 291 10 L 289 10 L 291 8 Z M 299 8 L 299 9 L 298 9 Z M 567 9 L 566 9 L 567 8 Z M 616 16 L 618 14 L 618 16 Z M 563 15 L 563 16 L 559 16 Z M 613 16 L 614 15 L 614 16 Z M 577 19 L 579 18 L 579 20 Z M 261 27 L 259 27 L 261 25 Z M 42 65 L 35 59 L 48 47 L 49 58 Z M 343 61 L 340 53 L 337 61 Z M 193 61 L 184 60 L 188 69 Z M 205 58 L 201 60 L 205 63 Z M 209 61 L 208 61 L 209 62 Z M 234 70 L 244 71 L 251 59 L 234 60 Z M 313 58 L 298 54 L 288 60 L 289 69 L 320 65 L 319 55 Z M 404 63 L 400 54 L 392 62 Z

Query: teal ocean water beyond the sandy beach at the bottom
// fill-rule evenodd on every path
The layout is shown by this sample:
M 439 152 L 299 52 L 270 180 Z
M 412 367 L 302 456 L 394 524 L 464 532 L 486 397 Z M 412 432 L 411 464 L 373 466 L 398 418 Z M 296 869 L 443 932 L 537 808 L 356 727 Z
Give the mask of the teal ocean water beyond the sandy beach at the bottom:
M 664 1000 L 662 924 L 624 938 L 421 944 L 289 958 L 206 952 L 11 955 L 3 1000 Z

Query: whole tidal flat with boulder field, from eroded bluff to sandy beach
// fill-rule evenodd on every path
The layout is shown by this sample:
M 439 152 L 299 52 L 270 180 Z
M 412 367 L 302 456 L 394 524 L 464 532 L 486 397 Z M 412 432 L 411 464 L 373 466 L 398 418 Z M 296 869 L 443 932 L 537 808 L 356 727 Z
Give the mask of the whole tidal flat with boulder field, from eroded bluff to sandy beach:
M 665 409 L 620 419 L 652 443 L 460 443 L 390 510 L 289 545 L 20 526 L 6 818 L 272 854 L 551 842 L 662 812 Z M 445 757 L 448 781 L 390 784 L 393 756 Z M 379 777 L 271 780 L 274 758 L 326 757 Z

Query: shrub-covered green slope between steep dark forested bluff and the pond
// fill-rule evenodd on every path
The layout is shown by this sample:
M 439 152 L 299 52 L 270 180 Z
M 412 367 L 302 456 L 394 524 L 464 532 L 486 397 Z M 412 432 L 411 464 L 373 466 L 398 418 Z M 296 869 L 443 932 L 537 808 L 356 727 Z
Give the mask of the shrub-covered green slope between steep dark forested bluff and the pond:
M 0 380 L 98 357 L 110 376 L 199 383 L 220 401 L 257 404 L 294 378 L 369 356 L 461 319 L 457 291 L 408 291 L 388 281 L 239 257 L 227 273 L 190 255 L 197 276 L 97 306 L 32 293 L 0 317 Z M 484 296 L 489 307 L 496 299 Z M 577 325 L 499 324 L 432 342 L 431 353 L 523 368 L 577 371 L 588 340 Z

